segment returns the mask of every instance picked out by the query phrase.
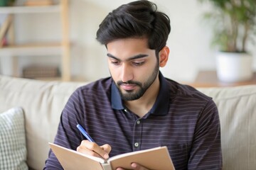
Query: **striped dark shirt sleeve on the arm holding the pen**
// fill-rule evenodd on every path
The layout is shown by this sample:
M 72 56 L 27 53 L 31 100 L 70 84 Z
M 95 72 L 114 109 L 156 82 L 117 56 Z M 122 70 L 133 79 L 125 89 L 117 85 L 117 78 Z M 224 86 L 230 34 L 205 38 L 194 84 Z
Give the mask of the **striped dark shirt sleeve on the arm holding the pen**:
M 82 114 L 82 104 L 80 100 L 79 90 L 75 91 L 68 99 L 68 103 L 65 105 L 60 116 L 60 123 L 54 140 L 55 144 L 73 150 L 76 150 L 80 145 L 82 137 L 79 130 L 76 128 L 80 120 L 79 114 Z M 46 159 L 44 169 L 63 169 L 51 149 L 48 154 L 48 159 Z

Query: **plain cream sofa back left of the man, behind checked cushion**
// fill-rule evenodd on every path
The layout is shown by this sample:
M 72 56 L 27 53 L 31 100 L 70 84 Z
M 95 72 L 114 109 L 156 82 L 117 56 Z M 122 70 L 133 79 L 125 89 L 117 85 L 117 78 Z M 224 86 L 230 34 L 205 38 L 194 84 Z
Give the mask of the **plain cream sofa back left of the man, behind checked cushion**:
M 53 142 L 60 114 L 70 95 L 82 82 L 39 81 L 0 76 L 0 112 L 21 106 L 25 114 L 30 169 L 43 169 L 48 142 Z

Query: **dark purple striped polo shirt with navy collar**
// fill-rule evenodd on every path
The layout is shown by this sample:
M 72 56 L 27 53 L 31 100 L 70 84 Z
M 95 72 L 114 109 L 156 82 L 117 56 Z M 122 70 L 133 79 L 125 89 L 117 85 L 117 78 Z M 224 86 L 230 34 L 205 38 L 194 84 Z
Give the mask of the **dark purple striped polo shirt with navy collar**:
M 54 143 L 75 150 L 86 140 L 79 123 L 98 145 L 112 146 L 110 157 L 166 146 L 176 170 L 221 169 L 220 122 L 212 98 L 161 72 L 159 80 L 156 102 L 142 118 L 123 105 L 111 77 L 81 86 L 63 109 Z M 62 169 L 51 150 L 45 169 Z

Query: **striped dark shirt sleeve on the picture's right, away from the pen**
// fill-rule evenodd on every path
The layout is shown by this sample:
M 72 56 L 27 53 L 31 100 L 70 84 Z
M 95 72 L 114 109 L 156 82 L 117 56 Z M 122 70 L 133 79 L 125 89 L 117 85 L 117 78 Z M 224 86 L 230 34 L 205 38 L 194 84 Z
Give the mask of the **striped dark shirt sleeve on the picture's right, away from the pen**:
M 222 169 L 220 120 L 213 100 L 208 101 L 199 115 L 188 169 Z

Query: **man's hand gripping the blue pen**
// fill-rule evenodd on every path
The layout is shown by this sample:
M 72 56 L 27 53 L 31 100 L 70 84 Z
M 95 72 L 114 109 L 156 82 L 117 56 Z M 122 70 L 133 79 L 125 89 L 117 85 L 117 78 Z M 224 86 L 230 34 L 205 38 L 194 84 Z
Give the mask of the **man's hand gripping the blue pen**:
M 83 154 L 89 154 L 94 157 L 102 157 L 103 159 L 108 159 L 110 156 L 111 146 L 108 144 L 99 146 L 95 142 L 90 142 L 89 140 L 82 140 L 77 151 Z

